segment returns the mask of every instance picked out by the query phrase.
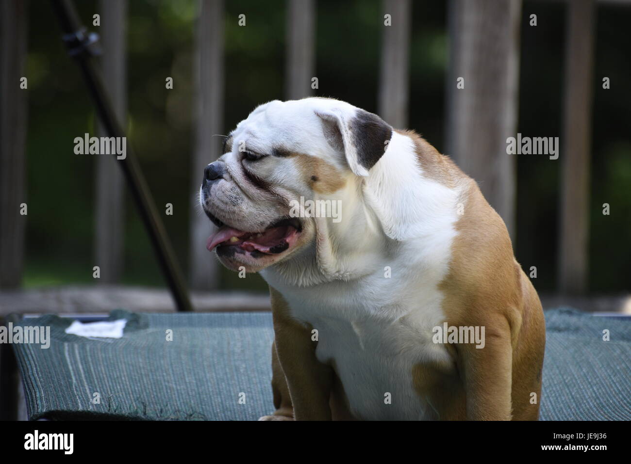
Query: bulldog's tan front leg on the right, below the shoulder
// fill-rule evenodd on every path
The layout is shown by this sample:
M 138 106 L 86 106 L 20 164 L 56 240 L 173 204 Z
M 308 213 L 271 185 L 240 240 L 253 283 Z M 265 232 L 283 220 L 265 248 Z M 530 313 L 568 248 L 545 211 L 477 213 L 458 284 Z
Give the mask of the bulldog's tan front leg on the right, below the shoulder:
M 486 327 L 482 348 L 459 345 L 468 420 L 510 420 L 512 345 L 508 327 Z

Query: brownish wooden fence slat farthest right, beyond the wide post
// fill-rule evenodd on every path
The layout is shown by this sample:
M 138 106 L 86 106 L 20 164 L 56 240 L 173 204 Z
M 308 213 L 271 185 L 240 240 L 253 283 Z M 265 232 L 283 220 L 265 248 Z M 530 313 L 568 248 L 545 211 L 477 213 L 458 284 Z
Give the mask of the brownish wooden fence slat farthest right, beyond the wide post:
M 558 288 L 587 290 L 594 2 L 567 2 Z

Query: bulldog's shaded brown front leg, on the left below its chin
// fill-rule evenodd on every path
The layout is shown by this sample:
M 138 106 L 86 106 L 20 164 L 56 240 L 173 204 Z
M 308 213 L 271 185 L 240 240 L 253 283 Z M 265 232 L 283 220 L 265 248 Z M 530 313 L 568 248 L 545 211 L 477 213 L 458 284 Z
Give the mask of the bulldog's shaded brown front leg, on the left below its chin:
M 311 330 L 290 315 L 280 293 L 269 287 L 276 354 L 287 381 L 296 420 L 331 420 L 333 369 L 315 357 Z M 277 374 L 274 372 L 274 374 Z

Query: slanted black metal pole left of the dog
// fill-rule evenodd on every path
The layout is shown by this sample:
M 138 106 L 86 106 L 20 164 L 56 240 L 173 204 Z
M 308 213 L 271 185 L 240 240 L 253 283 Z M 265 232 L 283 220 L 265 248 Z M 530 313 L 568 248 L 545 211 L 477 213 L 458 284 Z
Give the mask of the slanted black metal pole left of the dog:
M 68 47 L 68 54 L 76 59 L 81 68 L 103 127 L 105 127 L 110 137 L 124 137 L 125 133 L 110 105 L 100 73 L 97 72 L 91 60 L 91 57 L 95 54 L 95 44 L 98 36 L 94 33 L 87 33 L 85 28 L 81 26 L 81 21 L 69 0 L 51 0 L 51 2 L 61 29 L 64 32 L 63 40 Z M 186 284 L 184 284 L 184 277 L 175 260 L 175 253 L 168 241 L 162 220 L 158 216 L 138 160 L 129 146 L 126 155 L 124 160 L 117 160 L 117 163 L 123 170 L 127 185 L 143 219 L 144 227 L 149 233 L 151 245 L 153 245 L 153 250 L 158 257 L 162 272 L 165 279 L 167 279 L 177 310 L 192 311 L 191 300 L 189 299 Z

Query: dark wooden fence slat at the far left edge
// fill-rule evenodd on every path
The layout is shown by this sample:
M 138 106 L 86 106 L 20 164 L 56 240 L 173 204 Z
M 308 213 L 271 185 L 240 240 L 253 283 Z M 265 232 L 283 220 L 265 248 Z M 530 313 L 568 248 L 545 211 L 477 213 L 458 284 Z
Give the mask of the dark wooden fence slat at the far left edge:
M 24 267 L 24 233 L 28 216 L 25 188 L 27 89 L 27 2 L 0 2 L 0 288 L 20 286 Z M 27 210 L 28 211 L 28 210 Z M 32 209 L 31 209 L 32 211 Z

